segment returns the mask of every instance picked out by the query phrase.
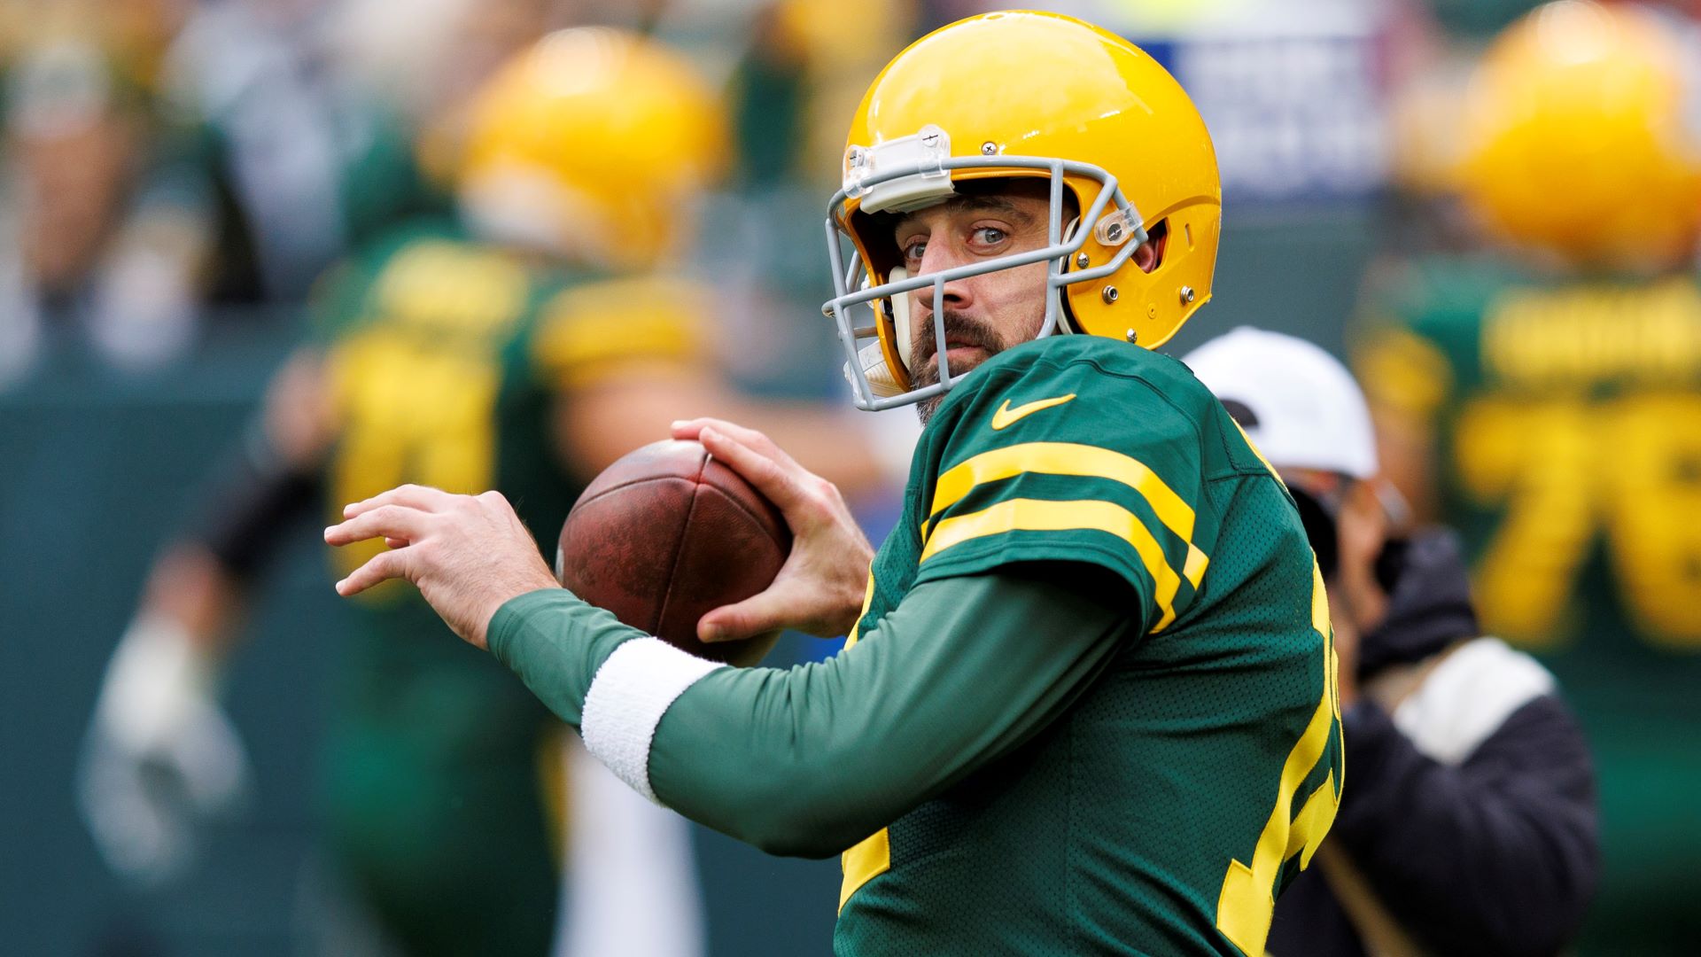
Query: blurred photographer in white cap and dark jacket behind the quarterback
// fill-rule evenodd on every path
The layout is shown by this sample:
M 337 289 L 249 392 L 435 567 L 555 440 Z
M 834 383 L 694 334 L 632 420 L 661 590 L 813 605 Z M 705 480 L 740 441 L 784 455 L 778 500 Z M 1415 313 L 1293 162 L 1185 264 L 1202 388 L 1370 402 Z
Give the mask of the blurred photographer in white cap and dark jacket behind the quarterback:
M 1300 506 L 1340 656 L 1351 783 L 1269 952 L 1558 954 L 1599 848 L 1589 749 L 1553 676 L 1482 637 L 1449 531 L 1391 528 L 1398 501 L 1340 361 L 1249 327 L 1184 361 Z

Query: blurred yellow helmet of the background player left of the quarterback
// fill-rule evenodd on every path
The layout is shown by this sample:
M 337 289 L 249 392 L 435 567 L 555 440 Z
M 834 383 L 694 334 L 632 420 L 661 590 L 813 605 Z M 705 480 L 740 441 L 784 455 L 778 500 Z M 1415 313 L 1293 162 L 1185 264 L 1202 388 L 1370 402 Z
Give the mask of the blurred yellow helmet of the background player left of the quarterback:
M 640 267 L 687 238 L 726 150 L 723 102 L 684 56 L 626 31 L 566 29 L 478 90 L 456 192 L 481 232 Z

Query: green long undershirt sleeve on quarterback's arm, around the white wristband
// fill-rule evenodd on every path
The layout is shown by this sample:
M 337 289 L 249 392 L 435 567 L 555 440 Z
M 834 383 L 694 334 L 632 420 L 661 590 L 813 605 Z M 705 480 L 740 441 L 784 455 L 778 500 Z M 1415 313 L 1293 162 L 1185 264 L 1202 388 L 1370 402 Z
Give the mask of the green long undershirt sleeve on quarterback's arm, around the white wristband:
M 915 586 L 830 661 L 691 685 L 657 727 L 650 787 L 771 853 L 839 853 L 1056 719 L 1138 628 L 1119 598 L 1010 570 Z M 490 623 L 497 657 L 575 727 L 597 668 L 640 637 L 556 589 Z

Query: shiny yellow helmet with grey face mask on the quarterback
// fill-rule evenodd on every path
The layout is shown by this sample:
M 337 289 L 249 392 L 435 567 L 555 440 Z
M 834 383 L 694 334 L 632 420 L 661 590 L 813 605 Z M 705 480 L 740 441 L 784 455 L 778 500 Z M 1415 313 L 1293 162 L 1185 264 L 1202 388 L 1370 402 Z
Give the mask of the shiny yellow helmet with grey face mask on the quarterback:
M 1004 177 L 1051 181 L 1048 247 L 912 278 L 891 237 L 871 228 L 873 213 L 920 209 L 959 182 Z M 941 381 L 912 388 L 908 293 L 932 288 L 939 307 L 947 281 L 1039 261 L 1050 262 L 1039 335 L 1162 346 L 1211 298 L 1221 203 L 1198 109 L 1126 39 L 1041 12 L 985 14 L 927 34 L 862 97 L 844 187 L 828 204 L 835 296 L 823 312 L 850 352 L 856 404 L 888 409 L 951 388 L 944 342 Z M 854 247 L 849 264 L 840 233 Z M 1152 272 L 1133 262 L 1148 237 L 1162 244 Z M 873 313 L 866 325 L 852 318 L 859 308 Z

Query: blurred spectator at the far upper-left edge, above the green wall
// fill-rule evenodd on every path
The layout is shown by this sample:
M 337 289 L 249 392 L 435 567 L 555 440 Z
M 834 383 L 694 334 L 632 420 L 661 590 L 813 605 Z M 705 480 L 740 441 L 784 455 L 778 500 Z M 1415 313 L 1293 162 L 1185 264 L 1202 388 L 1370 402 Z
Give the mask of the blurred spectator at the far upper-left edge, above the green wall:
M 143 80 L 68 26 L 3 78 L 0 387 L 44 356 L 136 370 L 189 349 L 211 237 Z

